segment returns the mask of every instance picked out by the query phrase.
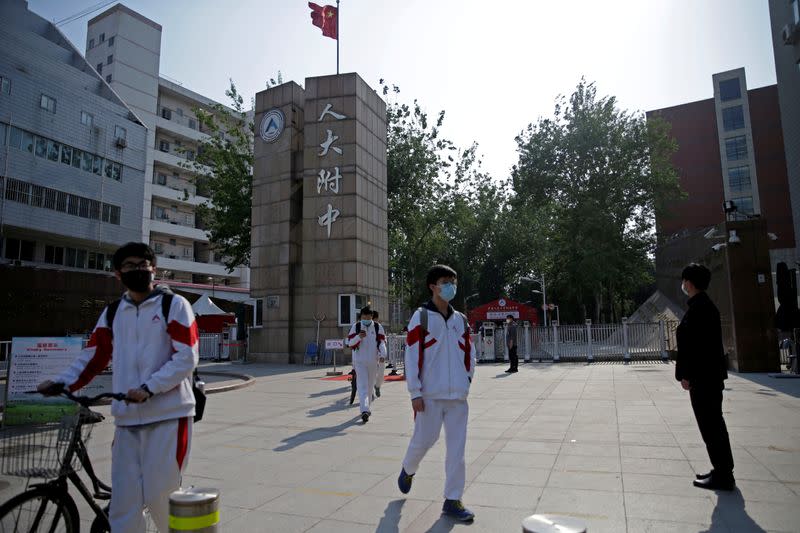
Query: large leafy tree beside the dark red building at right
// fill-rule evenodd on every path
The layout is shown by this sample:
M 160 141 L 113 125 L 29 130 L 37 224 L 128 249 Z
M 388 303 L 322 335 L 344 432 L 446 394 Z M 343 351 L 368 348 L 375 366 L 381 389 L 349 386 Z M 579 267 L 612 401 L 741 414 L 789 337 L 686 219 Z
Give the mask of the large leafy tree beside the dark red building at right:
M 582 79 L 516 141 L 512 205 L 535 221 L 533 265 L 552 280 L 548 292 L 562 315 L 618 320 L 652 279 L 655 215 L 681 194 L 668 126 L 618 109 Z

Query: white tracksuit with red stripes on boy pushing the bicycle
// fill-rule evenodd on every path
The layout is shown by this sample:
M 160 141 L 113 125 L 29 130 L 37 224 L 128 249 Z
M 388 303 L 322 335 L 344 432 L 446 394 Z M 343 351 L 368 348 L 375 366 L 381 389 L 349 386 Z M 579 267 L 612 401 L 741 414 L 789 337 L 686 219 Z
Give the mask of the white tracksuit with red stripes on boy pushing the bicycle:
M 169 324 L 156 289 L 138 306 L 122 298 L 109 330 L 100 316 L 83 353 L 54 381 L 75 391 L 114 359 L 113 390 L 127 392 L 142 384 L 153 397 L 144 403 L 114 401 L 116 431 L 111 451 L 111 531 L 145 530 L 142 511 L 150 510 L 159 530 L 169 529 L 169 495 L 180 488 L 191 445 L 194 394 L 192 371 L 198 361 L 198 333 L 189 302 L 172 300 Z

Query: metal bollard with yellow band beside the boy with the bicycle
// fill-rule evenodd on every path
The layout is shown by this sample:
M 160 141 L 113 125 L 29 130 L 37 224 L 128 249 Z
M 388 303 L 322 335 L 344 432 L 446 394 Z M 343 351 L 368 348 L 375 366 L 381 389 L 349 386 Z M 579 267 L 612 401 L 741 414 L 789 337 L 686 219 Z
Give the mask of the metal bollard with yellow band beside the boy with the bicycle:
M 190 487 L 169 495 L 170 533 L 215 533 L 219 524 L 219 491 Z

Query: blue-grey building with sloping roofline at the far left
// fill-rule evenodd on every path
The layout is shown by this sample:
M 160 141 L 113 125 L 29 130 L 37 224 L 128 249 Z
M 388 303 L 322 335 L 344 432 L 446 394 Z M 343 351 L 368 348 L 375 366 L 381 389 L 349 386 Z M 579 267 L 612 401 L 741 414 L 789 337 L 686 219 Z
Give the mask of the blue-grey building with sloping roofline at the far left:
M 146 135 L 54 24 L 0 2 L 0 263 L 110 275 L 141 236 Z

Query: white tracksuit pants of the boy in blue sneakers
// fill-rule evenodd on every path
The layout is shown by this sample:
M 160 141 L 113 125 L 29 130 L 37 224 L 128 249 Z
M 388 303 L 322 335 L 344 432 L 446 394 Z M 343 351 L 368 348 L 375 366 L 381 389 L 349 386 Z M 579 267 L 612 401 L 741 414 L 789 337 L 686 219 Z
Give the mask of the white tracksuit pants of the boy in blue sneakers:
M 445 455 L 444 497 L 446 500 L 460 500 L 464 494 L 467 467 L 464 449 L 467 444 L 467 400 L 428 400 L 425 410 L 414 418 L 414 435 L 408 444 L 403 468 L 408 474 L 415 474 L 422 458 L 439 440 L 444 425 Z

